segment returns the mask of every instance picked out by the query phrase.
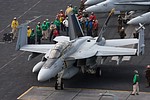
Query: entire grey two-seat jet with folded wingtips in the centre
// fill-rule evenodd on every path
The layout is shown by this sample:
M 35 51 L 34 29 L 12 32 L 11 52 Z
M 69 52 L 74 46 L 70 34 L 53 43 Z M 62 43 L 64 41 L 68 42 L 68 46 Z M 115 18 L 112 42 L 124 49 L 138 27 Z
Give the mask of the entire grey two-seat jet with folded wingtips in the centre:
M 39 71 L 38 81 L 46 81 L 57 76 L 55 89 L 63 89 L 63 79 L 69 79 L 76 75 L 79 70 L 83 73 L 96 73 L 98 71 L 97 57 L 102 57 L 101 64 L 106 57 L 139 56 L 144 53 L 144 27 L 139 27 L 139 39 L 112 39 L 105 40 L 103 33 L 106 30 L 107 17 L 98 37 L 84 36 L 78 19 L 74 14 L 68 15 L 69 37 L 58 36 L 54 40 L 56 44 L 27 44 L 27 24 L 19 26 L 19 35 L 16 49 L 32 52 L 29 59 L 37 53 L 45 54 L 37 63 L 33 72 Z M 137 44 L 137 48 L 125 48 L 120 46 Z M 118 61 L 118 62 L 119 62 Z

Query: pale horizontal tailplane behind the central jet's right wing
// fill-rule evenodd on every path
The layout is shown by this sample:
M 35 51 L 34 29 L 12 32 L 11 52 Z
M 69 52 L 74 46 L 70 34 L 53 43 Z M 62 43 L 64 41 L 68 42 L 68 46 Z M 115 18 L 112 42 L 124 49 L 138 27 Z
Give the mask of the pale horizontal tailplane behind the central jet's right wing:
M 138 43 L 138 39 L 112 39 L 106 40 L 105 46 L 125 46 Z

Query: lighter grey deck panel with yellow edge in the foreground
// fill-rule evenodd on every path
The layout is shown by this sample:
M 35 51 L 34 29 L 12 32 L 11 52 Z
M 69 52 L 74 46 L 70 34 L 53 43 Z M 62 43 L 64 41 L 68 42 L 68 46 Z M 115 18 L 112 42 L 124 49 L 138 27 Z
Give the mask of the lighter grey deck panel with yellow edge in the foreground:
M 131 91 L 115 91 L 100 89 L 65 88 L 55 90 L 54 87 L 33 86 L 19 96 L 18 100 L 150 100 L 149 92 L 130 95 Z

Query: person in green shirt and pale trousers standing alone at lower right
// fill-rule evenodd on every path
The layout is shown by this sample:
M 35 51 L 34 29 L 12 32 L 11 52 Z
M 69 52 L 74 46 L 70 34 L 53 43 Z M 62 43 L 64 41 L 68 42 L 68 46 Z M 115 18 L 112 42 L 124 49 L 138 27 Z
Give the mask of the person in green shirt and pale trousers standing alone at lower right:
M 134 77 L 133 77 L 133 91 L 131 95 L 139 95 L 139 74 L 137 70 L 134 70 Z

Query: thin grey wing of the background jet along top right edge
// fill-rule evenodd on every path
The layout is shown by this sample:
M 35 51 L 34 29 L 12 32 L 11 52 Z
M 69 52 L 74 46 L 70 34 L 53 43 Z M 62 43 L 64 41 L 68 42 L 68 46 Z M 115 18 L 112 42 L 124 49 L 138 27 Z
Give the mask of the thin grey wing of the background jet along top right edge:
M 120 2 L 115 5 L 137 5 L 137 6 L 149 6 L 150 2 Z

